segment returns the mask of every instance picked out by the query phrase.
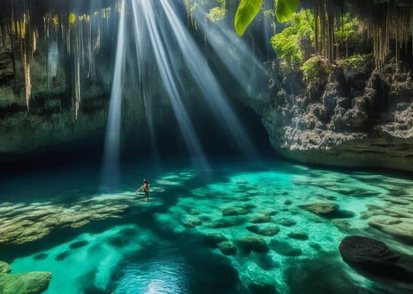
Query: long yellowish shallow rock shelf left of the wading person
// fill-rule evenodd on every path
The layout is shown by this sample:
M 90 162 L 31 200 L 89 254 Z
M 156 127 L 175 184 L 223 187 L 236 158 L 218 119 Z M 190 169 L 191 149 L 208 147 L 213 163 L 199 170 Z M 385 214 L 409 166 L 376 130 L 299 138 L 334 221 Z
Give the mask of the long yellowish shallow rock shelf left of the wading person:
M 99 195 L 72 205 L 2 205 L 0 244 L 21 245 L 39 240 L 58 227 L 82 227 L 92 220 L 116 218 L 133 203 L 127 195 Z

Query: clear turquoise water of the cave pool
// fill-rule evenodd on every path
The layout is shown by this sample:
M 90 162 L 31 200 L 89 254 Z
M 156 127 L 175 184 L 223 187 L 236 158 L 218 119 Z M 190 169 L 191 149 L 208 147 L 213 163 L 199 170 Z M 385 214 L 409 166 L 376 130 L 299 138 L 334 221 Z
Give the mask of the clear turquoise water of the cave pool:
M 397 209 L 394 199 L 412 208 L 410 179 L 284 161 L 217 159 L 211 167 L 199 174 L 179 161 L 149 170 L 124 164 L 117 189 L 102 188 L 99 168 L 90 166 L 6 177 L 0 260 L 13 273 L 51 271 L 46 293 L 405 291 L 363 277 L 338 247 L 362 235 L 411 254 L 405 240 L 368 224 L 388 218 L 383 210 L 389 201 Z M 148 203 L 133 194 L 143 177 Z M 339 210 L 321 217 L 299 207 L 309 203 Z

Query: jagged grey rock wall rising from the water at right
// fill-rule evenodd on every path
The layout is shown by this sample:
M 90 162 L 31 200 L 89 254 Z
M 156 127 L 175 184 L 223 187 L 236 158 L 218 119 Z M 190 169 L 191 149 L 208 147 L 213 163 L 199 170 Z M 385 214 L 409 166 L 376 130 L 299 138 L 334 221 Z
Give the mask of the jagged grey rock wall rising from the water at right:
M 331 66 L 317 82 L 303 82 L 300 74 L 271 79 L 265 98 L 246 102 L 262 116 L 280 155 L 304 163 L 413 170 L 408 66 L 396 69 L 390 60 L 379 70 L 371 57 L 362 62 Z

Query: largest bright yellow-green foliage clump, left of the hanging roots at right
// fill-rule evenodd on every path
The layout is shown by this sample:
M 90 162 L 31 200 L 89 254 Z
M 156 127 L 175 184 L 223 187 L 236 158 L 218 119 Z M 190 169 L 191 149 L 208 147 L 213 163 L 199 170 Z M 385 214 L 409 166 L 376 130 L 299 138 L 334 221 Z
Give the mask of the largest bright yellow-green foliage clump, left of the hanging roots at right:
M 278 57 L 293 71 L 297 71 L 303 62 L 299 40 L 304 36 L 310 36 L 311 40 L 314 38 L 313 23 L 314 16 L 310 10 L 301 10 L 291 16 L 289 27 L 271 38 L 271 45 Z

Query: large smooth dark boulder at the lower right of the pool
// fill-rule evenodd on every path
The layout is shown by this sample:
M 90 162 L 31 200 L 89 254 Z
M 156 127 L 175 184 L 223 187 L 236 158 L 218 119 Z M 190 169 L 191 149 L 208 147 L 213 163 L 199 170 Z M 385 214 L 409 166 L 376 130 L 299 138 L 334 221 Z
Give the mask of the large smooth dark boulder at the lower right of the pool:
M 347 236 L 341 240 L 339 250 L 345 262 L 363 273 L 412 282 L 413 271 L 399 264 L 399 253 L 379 240 Z

